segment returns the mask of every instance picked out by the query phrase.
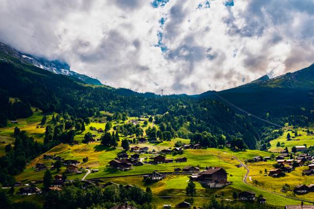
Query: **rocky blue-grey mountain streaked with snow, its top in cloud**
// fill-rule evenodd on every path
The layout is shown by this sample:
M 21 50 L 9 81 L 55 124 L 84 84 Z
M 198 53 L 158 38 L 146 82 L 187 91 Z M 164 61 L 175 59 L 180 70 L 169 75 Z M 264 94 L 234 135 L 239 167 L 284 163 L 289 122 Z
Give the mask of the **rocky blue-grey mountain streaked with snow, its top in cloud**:
M 43 70 L 50 71 L 55 74 L 67 75 L 69 77 L 76 78 L 84 83 L 91 85 L 102 85 L 102 83 L 87 75 L 79 74 L 70 70 L 70 66 L 65 62 L 59 60 L 48 60 L 44 57 L 36 57 L 30 54 L 23 54 L 9 47 L 8 45 L 0 42 L 0 59 L 8 59 L 9 57 L 15 57 L 23 63 L 30 64 L 41 68 Z

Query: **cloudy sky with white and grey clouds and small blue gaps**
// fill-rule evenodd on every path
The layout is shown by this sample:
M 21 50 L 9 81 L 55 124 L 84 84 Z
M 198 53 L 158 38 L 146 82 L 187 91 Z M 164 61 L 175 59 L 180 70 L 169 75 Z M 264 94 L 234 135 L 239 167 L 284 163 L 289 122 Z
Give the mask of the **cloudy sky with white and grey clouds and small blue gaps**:
M 312 0 L 1 0 L 0 41 L 113 87 L 195 94 L 314 62 Z

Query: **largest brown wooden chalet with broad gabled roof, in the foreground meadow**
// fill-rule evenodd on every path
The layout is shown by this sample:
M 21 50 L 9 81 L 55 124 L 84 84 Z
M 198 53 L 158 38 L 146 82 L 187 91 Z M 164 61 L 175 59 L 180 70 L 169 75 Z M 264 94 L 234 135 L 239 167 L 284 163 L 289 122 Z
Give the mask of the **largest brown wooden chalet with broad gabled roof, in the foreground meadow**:
M 202 185 L 210 188 L 220 188 L 229 185 L 227 181 L 227 172 L 223 168 L 209 168 L 208 170 L 202 171 L 197 175 L 190 176 L 192 181 L 198 181 Z

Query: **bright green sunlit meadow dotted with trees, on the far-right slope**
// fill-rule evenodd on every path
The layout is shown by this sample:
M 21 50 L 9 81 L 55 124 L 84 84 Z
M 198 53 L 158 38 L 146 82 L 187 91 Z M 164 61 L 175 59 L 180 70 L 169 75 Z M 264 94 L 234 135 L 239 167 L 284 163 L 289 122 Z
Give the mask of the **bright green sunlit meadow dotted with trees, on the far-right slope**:
M 300 134 L 301 136 L 298 136 L 296 138 L 292 138 L 292 136 L 294 137 L 295 134 L 292 133 L 292 131 L 288 131 L 288 130 L 293 130 L 293 131 L 298 131 L 298 134 Z M 285 147 L 288 148 L 289 151 L 291 151 L 291 148 L 294 147 L 294 146 L 298 146 L 298 145 L 303 145 L 303 144 L 307 144 L 308 147 L 310 145 L 313 145 L 314 144 L 314 136 L 307 136 L 307 133 L 305 132 L 307 129 L 302 129 L 302 128 L 299 128 L 299 129 L 292 129 L 292 127 L 288 127 L 288 128 L 285 128 L 285 132 L 283 134 L 283 136 L 277 138 L 277 139 L 274 139 L 274 140 L 271 140 L 270 141 L 270 144 L 271 144 L 271 148 L 268 149 L 270 152 L 281 152 L 285 149 Z M 310 131 L 314 131 L 313 128 L 309 128 Z M 291 136 L 291 141 L 287 141 L 287 134 L 290 134 Z M 297 140 L 299 139 L 299 140 Z M 276 147 L 276 144 L 280 142 L 280 143 L 284 143 L 284 146 L 283 147 Z

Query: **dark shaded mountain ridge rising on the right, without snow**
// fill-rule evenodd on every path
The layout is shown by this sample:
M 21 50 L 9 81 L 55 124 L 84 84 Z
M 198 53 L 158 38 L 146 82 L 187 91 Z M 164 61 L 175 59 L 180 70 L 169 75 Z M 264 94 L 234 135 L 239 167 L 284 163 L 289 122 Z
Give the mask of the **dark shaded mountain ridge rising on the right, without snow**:
M 293 73 L 269 78 L 267 75 L 245 85 L 207 91 L 195 98 L 216 98 L 217 93 L 234 105 L 262 117 L 305 116 L 313 118 L 314 64 Z

